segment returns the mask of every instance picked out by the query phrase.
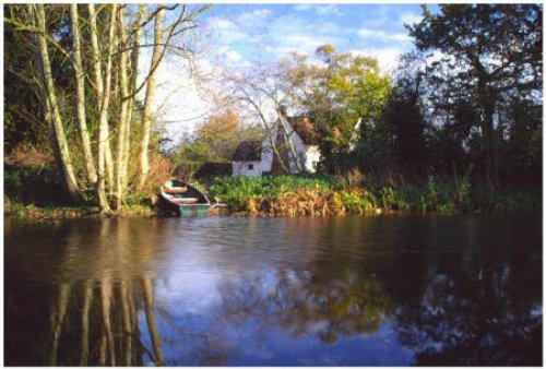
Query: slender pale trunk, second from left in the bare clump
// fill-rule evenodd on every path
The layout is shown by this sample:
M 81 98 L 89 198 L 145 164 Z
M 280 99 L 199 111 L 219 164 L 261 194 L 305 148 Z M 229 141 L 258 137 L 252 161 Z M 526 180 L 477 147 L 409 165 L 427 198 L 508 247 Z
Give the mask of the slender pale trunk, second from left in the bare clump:
M 85 73 L 82 67 L 82 53 L 80 48 L 80 25 L 78 20 L 78 4 L 70 4 L 70 20 L 72 28 L 72 47 L 74 51 L 74 76 L 76 85 L 76 111 L 78 111 L 78 128 L 82 140 L 83 156 L 87 180 L 91 184 L 97 181 L 97 174 L 91 153 L 90 135 L 87 132 L 87 121 L 85 117 Z

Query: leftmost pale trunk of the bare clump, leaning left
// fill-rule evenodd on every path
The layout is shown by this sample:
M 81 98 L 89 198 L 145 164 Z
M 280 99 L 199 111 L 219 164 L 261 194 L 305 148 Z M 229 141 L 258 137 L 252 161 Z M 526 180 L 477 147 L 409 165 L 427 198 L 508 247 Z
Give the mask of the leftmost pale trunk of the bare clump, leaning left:
M 51 121 L 54 128 L 54 136 L 56 148 L 54 152 L 58 153 L 55 159 L 57 166 L 61 169 L 60 175 L 62 178 L 62 182 L 73 201 L 80 200 L 80 194 L 78 193 L 78 181 L 75 179 L 74 169 L 72 167 L 72 160 L 70 157 L 70 152 L 67 143 L 67 138 L 64 135 L 64 128 L 62 127 L 61 116 L 59 111 L 59 106 L 57 103 L 57 96 L 55 93 L 55 84 L 54 78 L 51 74 L 51 64 L 49 61 L 49 52 L 47 50 L 46 43 L 46 14 L 44 10 L 44 4 L 37 4 L 37 19 L 38 19 L 38 28 L 40 31 L 40 37 L 38 37 L 38 47 L 40 55 L 40 63 L 43 68 L 43 76 L 44 76 L 44 86 L 45 86 L 45 96 L 46 104 L 49 104 L 50 112 L 51 112 Z M 46 110 L 48 110 L 46 108 Z

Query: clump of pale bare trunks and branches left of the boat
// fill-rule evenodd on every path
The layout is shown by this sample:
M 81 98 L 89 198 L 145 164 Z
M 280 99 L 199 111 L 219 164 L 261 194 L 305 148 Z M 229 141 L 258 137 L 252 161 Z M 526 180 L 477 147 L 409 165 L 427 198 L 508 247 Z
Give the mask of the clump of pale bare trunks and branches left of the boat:
M 73 154 L 69 150 L 58 97 L 58 93 L 61 91 L 56 91 L 48 47 L 55 48 L 57 56 L 60 52 L 63 61 L 69 63 L 68 70 L 74 75 L 74 88 L 63 90 L 62 92 L 68 92 L 68 94 L 61 94 L 61 96 L 69 96 L 67 103 L 73 104 L 75 111 L 79 130 L 79 140 L 75 144 L 83 158 L 84 182 L 96 188 L 96 200 L 100 212 L 111 214 L 110 200 L 116 200 L 117 210 L 122 207 L 123 198 L 128 192 L 129 167 L 140 171 L 139 183 L 144 183 L 150 171 L 149 151 L 153 129 L 152 102 L 159 63 L 167 50 L 181 51 L 181 57 L 188 57 L 187 49 L 175 45 L 174 37 L 195 27 L 192 19 L 206 10 L 209 5 L 199 7 L 188 14 L 187 5 L 165 7 L 162 4 L 146 14 L 144 5 L 132 8 L 127 4 L 106 4 L 95 9 L 95 5 L 88 4 L 88 20 L 83 20 L 84 22 L 81 22 L 81 13 L 76 4 L 64 8 L 56 7 L 28 5 L 26 9 L 29 19 L 37 19 L 37 21 L 27 22 L 11 13 L 11 16 L 5 17 L 5 22 L 16 26 L 20 31 L 29 32 L 33 47 L 36 49 L 32 56 L 39 86 L 38 96 L 44 104 L 44 118 L 50 130 L 56 164 L 68 193 L 74 201 L 78 201 L 80 194 L 71 157 Z M 131 15 L 133 9 L 135 12 L 132 14 L 135 16 L 130 20 L 130 16 L 124 15 L 126 10 L 129 10 L 127 14 Z M 62 11 L 57 12 L 57 10 Z M 69 12 L 64 10 L 69 10 Z M 173 22 L 164 27 L 165 12 L 175 10 L 177 14 Z M 46 11 L 48 14 L 60 14 L 60 17 L 46 24 Z M 100 27 L 97 24 L 99 22 L 97 13 L 99 12 L 108 13 L 100 17 L 106 23 Z M 70 21 L 70 50 L 64 47 L 62 39 L 66 34 L 62 24 L 67 14 L 70 15 L 70 20 L 67 19 Z M 173 12 L 173 14 L 175 13 Z M 154 41 L 152 45 L 143 45 L 141 35 L 151 22 L 154 22 Z M 185 25 L 182 26 L 182 24 Z M 83 38 L 87 34 L 90 47 L 85 49 L 87 43 Z M 153 58 L 149 73 L 143 75 L 138 85 L 139 52 L 142 47 L 153 47 Z M 90 79 L 86 75 L 86 68 L 91 71 Z M 92 88 L 86 90 L 86 87 Z M 131 127 L 136 118 L 136 115 L 133 114 L 135 98 L 144 88 L 143 115 L 138 117 L 142 121 L 142 135 L 131 150 Z M 90 109 L 85 104 L 88 99 L 96 102 L 97 114 L 93 119 L 98 121 L 96 153 L 93 152 L 87 126 Z M 109 127 L 109 120 L 116 121 L 116 124 L 111 123 L 115 128 Z M 111 139 L 112 132 L 117 132 L 116 139 Z M 140 160 L 129 160 L 132 151 L 139 152 Z M 112 156 L 112 152 L 116 157 Z M 84 187 L 82 186 L 82 188 Z M 114 198 L 111 199 L 109 195 L 114 195 Z

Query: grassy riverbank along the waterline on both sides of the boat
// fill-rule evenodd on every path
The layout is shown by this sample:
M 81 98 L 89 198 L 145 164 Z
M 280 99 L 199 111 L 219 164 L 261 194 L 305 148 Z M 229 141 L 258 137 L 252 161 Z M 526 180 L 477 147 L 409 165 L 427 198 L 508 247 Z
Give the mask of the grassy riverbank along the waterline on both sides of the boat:
M 211 201 L 225 204 L 211 215 L 337 216 L 346 214 L 539 213 L 542 192 L 495 189 L 465 178 L 427 177 L 422 181 L 352 188 L 337 177 L 217 177 L 198 183 Z M 4 215 L 27 219 L 98 217 L 92 203 L 70 204 L 50 167 L 4 168 Z M 118 216 L 156 216 L 154 194 L 134 197 Z

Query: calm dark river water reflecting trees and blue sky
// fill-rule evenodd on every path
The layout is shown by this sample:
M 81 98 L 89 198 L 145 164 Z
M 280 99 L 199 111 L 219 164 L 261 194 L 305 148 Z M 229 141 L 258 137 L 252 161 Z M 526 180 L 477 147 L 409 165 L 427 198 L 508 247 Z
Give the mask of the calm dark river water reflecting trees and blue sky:
M 4 223 L 5 365 L 541 365 L 539 216 Z

